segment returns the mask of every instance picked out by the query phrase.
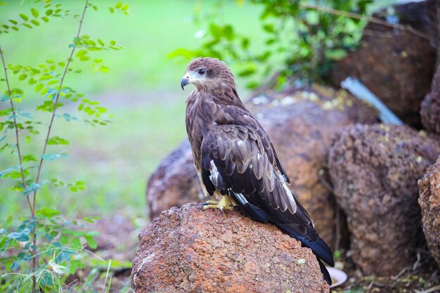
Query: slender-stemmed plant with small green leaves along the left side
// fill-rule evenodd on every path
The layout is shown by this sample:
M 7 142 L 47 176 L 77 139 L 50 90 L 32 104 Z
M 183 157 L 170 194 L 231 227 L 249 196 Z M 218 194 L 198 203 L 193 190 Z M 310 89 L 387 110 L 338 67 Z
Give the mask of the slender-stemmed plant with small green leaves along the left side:
M 34 0 L 32 3 L 37 3 L 40 0 Z M 70 11 L 64 10 L 61 4 L 51 6 L 50 0 L 45 0 L 44 13 L 40 13 L 35 8 L 31 8 L 30 12 L 32 16 L 25 13 L 18 14 L 21 20 L 8 20 L 12 25 L 0 25 L 0 34 L 18 31 L 19 27 L 28 27 L 30 29 L 38 27 L 40 20 L 48 22 L 50 17 L 63 17 L 70 15 Z M 82 35 L 82 27 L 84 23 L 84 15 L 88 8 L 97 10 L 97 6 L 89 3 L 89 0 L 84 2 L 84 8 L 81 15 L 74 15 L 79 20 L 77 34 L 70 44 L 70 53 L 67 61 L 56 63 L 53 60 L 46 60 L 46 63 L 37 66 L 23 66 L 23 65 L 6 65 L 4 58 L 4 51 L 0 48 L 1 65 L 3 67 L 5 78 L 1 79 L 6 82 L 7 91 L 0 97 L 1 102 L 8 102 L 10 107 L 0 109 L 0 116 L 7 117 L 5 121 L 0 121 L 0 131 L 4 135 L 0 135 L 0 141 L 6 138 L 8 130 L 15 132 L 15 143 L 6 143 L 0 146 L 0 152 L 4 150 L 11 150 L 11 155 L 18 155 L 19 165 L 10 167 L 8 169 L 0 170 L 0 179 L 11 178 L 15 180 L 15 185 L 12 190 L 18 190 L 25 195 L 27 205 L 30 210 L 30 217 L 26 217 L 24 221 L 20 218 L 21 224 L 18 228 L 15 228 L 11 233 L 8 233 L 6 229 L 0 229 L 0 252 L 5 252 L 6 249 L 13 251 L 7 254 L 6 257 L 1 257 L 1 267 L 8 268 L 10 271 L 15 272 L 20 270 L 20 266 L 23 263 L 32 263 L 26 268 L 30 267 L 30 274 L 10 273 L 4 274 L 2 277 L 8 276 L 10 279 L 5 282 L 2 280 L 0 283 L 0 291 L 4 287 L 9 287 L 10 281 L 13 282 L 13 288 L 20 288 L 27 292 L 53 292 L 54 289 L 62 285 L 67 275 L 62 279 L 60 274 L 70 273 L 74 274 L 78 270 L 84 268 L 84 259 L 75 259 L 71 257 L 73 254 L 81 254 L 85 251 L 82 242 L 86 242 L 89 247 L 96 249 L 96 237 L 95 231 L 83 231 L 85 228 L 83 222 L 93 223 L 96 218 L 86 217 L 82 221 L 67 221 L 64 217 L 60 216 L 61 212 L 58 210 L 48 209 L 43 207 L 37 209 L 37 195 L 41 193 L 41 187 L 45 183 L 52 183 L 53 186 L 63 186 L 69 188 L 73 193 L 78 190 L 85 189 L 85 183 L 83 181 L 77 181 L 75 183 L 65 183 L 58 178 L 52 178 L 50 181 L 42 180 L 41 170 L 45 161 L 51 161 L 60 157 L 66 157 L 65 152 L 50 153 L 48 152 L 48 145 L 67 145 L 69 142 L 65 138 L 60 136 L 53 136 L 53 123 L 56 117 L 63 117 L 67 122 L 70 120 L 78 120 L 77 117 L 63 113 L 59 114 L 60 107 L 63 106 L 60 98 L 65 98 L 73 102 L 80 100 L 78 110 L 93 116 L 91 121 L 84 119 L 85 122 L 95 124 L 107 124 L 108 120 L 98 119 L 105 115 L 107 110 L 100 105 L 99 102 L 84 98 L 82 93 L 77 93 L 70 86 L 65 85 L 65 77 L 67 72 L 80 73 L 81 70 L 72 69 L 72 62 L 79 61 L 92 61 L 93 71 L 95 72 L 108 72 L 108 67 L 102 64 L 101 58 L 91 58 L 92 51 L 105 51 L 105 50 L 120 50 L 123 47 L 116 43 L 116 41 L 110 41 L 107 44 L 101 39 L 96 41 L 90 39 L 87 35 Z M 128 5 L 116 4 L 113 7 L 113 11 L 119 11 L 124 14 L 128 14 Z M 41 16 L 44 15 L 44 16 Z M 18 19 L 18 18 L 15 18 Z M 62 71 L 57 73 L 57 70 Z M 17 108 L 16 103 L 21 103 L 25 93 L 21 89 L 13 88 L 10 84 L 8 74 L 18 74 L 18 82 L 28 82 L 31 85 L 35 85 L 35 91 L 40 93 L 41 96 L 47 98 L 40 105 L 37 105 L 35 111 L 50 112 L 49 121 L 47 124 L 47 131 L 44 134 L 44 145 L 41 154 L 32 155 L 22 152 L 22 141 L 20 140 L 20 132 L 27 132 L 25 141 L 29 143 L 31 141 L 30 134 L 39 134 L 36 126 L 43 123 L 33 121 L 32 112 L 24 112 Z M 37 162 L 37 166 L 27 166 L 26 162 Z M 28 164 L 29 165 L 29 164 Z M 35 181 L 30 180 L 30 172 L 32 169 L 36 169 Z M 32 197 L 31 197 L 32 196 Z M 6 225 L 11 225 L 11 220 L 6 221 Z M 74 228 L 70 228 L 74 226 Z M 37 237 L 38 242 L 37 243 Z M 44 243 L 47 242 L 47 243 Z M 15 244 L 15 246 L 12 246 Z M 38 246 L 37 246 L 38 244 Z M 51 249 L 42 249 L 43 245 L 51 246 Z M 70 247 L 68 247 L 70 246 Z M 15 253 L 16 252 L 16 253 Z M 53 252 L 53 256 L 51 253 Z M 48 261 L 48 263 L 44 263 Z M 110 265 L 109 265 L 110 266 Z M 15 282 L 13 278 L 23 277 L 18 282 Z M 20 277 L 21 276 L 21 277 Z M 22 285 L 22 282 L 32 280 L 32 285 Z M 25 288 L 25 289 L 23 289 Z

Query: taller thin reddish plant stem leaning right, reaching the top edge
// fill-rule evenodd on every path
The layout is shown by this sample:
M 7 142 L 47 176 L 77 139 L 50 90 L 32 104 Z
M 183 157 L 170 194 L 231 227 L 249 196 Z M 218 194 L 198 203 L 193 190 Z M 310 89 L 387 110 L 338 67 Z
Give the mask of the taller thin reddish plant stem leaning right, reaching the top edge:
M 37 179 L 35 180 L 35 184 L 39 183 L 39 178 L 40 178 L 40 175 L 41 175 L 41 167 L 42 167 L 43 162 L 44 162 L 44 155 L 46 154 L 46 148 L 47 148 L 47 145 L 48 145 L 49 138 L 51 136 L 53 120 L 55 119 L 55 113 L 56 113 L 56 110 L 57 110 L 58 100 L 60 98 L 60 90 L 63 88 L 63 83 L 64 83 L 65 75 L 67 74 L 67 70 L 69 69 L 69 65 L 70 65 L 70 62 L 72 61 L 73 54 L 75 53 L 75 49 L 77 48 L 77 43 L 78 43 L 78 40 L 79 40 L 79 34 L 81 33 L 82 23 L 84 21 L 84 15 L 86 14 L 87 6 L 89 6 L 89 0 L 86 0 L 86 3 L 84 4 L 84 9 L 82 11 L 81 19 L 79 20 L 77 36 L 74 39 L 74 44 L 72 46 L 72 51 L 70 51 L 70 56 L 67 59 L 67 64 L 65 65 L 63 76 L 60 79 L 60 84 L 58 86 L 58 92 L 56 94 L 55 102 L 53 103 L 53 111 L 52 111 L 52 116 L 51 116 L 51 122 L 48 125 L 48 131 L 47 131 L 47 134 L 46 134 L 46 140 L 44 141 L 43 153 L 41 155 L 41 159 L 40 159 L 40 162 L 39 162 L 38 171 L 37 171 Z M 33 197 L 33 202 L 32 202 L 32 217 L 35 216 L 35 202 L 36 202 L 36 199 L 37 199 L 37 190 L 34 190 L 34 197 Z M 33 242 L 34 247 L 37 247 L 37 234 L 35 233 L 35 227 L 36 226 L 34 226 L 34 233 L 33 233 L 34 237 L 33 237 L 33 241 L 32 242 Z M 32 271 L 35 271 L 35 268 L 37 268 L 37 257 L 32 258 Z M 35 293 L 36 290 L 37 290 L 37 283 L 36 283 L 35 278 L 33 278 L 32 293 Z

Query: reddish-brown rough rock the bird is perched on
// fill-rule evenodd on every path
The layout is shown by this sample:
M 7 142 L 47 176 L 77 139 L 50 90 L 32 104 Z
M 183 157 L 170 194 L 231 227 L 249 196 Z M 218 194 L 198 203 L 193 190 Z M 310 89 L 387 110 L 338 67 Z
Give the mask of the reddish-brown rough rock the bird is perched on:
M 134 292 L 329 292 L 310 249 L 239 211 L 169 209 L 139 235 Z

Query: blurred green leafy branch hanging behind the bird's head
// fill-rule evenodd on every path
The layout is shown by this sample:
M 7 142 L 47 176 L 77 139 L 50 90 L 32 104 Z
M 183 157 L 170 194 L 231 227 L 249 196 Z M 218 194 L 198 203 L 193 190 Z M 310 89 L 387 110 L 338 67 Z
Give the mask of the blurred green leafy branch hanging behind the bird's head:
M 332 63 L 358 45 L 366 20 L 363 16 L 349 16 L 364 15 L 370 2 L 329 0 L 321 8 L 305 0 L 252 0 L 263 8 L 261 29 L 267 36 L 264 46 L 258 48 L 246 34 L 223 23 L 217 9 L 216 18 L 207 22 L 199 49 L 179 48 L 169 56 L 212 56 L 226 60 L 238 67 L 239 76 L 250 80 L 247 86 L 251 89 L 261 86 L 261 80 L 265 82 L 260 89 L 311 84 L 327 77 Z

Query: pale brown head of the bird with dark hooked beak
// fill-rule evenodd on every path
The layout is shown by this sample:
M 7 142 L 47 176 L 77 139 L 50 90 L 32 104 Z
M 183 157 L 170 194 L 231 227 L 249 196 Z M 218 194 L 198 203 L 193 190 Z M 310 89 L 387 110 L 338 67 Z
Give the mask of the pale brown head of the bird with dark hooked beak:
M 226 64 L 216 58 L 203 57 L 191 61 L 186 67 L 186 74 L 181 81 L 181 87 L 193 84 L 200 91 L 209 91 L 219 86 L 233 86 L 235 78 Z

